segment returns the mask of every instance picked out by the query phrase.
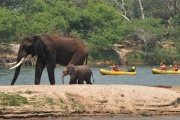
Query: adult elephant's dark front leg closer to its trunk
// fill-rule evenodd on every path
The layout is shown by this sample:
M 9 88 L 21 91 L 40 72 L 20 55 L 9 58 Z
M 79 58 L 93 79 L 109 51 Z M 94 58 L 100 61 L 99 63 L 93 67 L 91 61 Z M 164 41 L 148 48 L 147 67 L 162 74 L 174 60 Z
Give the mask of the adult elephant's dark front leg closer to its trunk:
M 37 63 L 36 63 L 36 70 L 35 70 L 35 85 L 39 85 L 40 84 L 40 80 L 41 80 L 41 75 L 42 72 L 45 68 L 45 63 L 42 62 L 39 58 L 37 59 Z

